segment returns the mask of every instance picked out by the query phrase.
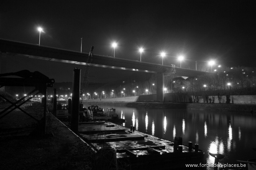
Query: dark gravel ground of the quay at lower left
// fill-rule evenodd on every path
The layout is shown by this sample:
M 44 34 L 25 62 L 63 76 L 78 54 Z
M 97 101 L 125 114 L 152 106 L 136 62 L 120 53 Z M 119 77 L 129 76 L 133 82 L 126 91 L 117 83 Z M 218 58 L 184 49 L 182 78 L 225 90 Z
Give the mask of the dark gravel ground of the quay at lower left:
M 2 103 L 0 111 L 7 106 Z M 39 103 L 22 108 L 43 117 Z M 92 169 L 94 152 L 87 144 L 52 114 L 47 114 L 46 128 L 43 135 L 36 121 L 18 109 L 0 119 L 0 169 Z

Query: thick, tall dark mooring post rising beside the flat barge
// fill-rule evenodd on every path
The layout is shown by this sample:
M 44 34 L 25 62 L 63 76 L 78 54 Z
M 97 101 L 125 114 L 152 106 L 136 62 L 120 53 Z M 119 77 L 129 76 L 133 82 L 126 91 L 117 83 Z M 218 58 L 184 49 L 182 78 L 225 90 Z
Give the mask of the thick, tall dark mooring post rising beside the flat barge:
M 73 72 L 73 92 L 72 92 L 72 110 L 71 110 L 71 130 L 78 135 L 79 102 L 80 102 L 80 69 L 74 69 Z

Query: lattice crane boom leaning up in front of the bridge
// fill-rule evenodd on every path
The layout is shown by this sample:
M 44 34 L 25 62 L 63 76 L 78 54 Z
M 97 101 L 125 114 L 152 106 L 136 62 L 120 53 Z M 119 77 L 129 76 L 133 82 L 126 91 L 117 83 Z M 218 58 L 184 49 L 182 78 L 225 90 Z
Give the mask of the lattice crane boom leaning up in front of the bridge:
M 87 61 L 86 61 L 86 65 L 85 65 L 83 81 L 82 81 L 81 88 L 80 88 L 80 106 L 81 105 L 83 106 L 82 102 L 83 102 L 83 99 L 84 99 L 84 96 L 85 96 L 84 92 L 86 90 L 86 86 L 87 86 L 88 80 L 89 80 L 89 72 L 90 72 L 90 69 L 91 69 L 91 66 L 92 66 L 92 56 L 93 56 L 92 51 L 93 51 L 93 48 L 94 47 L 92 46 L 91 51 L 90 51 L 89 56 L 88 56 Z

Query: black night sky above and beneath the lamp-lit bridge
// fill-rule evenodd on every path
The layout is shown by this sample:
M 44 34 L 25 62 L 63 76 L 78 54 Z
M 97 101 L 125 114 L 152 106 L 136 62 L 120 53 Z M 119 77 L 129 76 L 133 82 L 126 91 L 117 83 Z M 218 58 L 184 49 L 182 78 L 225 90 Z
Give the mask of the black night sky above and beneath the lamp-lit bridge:
M 205 64 L 255 67 L 256 1 L 12 1 L 2 0 L 0 38 L 41 45 L 81 50 L 115 57 L 176 64 L 183 55 L 183 68 L 195 69 L 195 61 Z M 85 59 L 86 61 L 86 59 Z M 37 59 L 11 57 L 7 72 L 40 71 L 56 82 L 72 81 L 73 69 L 84 66 Z M 214 66 L 213 66 L 214 67 Z M 209 67 L 210 68 L 210 67 Z M 132 75 L 132 71 L 92 67 L 96 82 L 114 81 Z M 146 74 L 146 73 L 141 73 Z M 115 76 L 113 76 L 115 75 Z M 90 80 L 89 80 L 90 81 Z

